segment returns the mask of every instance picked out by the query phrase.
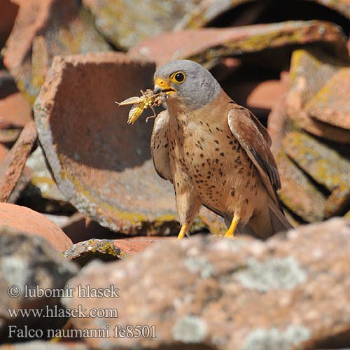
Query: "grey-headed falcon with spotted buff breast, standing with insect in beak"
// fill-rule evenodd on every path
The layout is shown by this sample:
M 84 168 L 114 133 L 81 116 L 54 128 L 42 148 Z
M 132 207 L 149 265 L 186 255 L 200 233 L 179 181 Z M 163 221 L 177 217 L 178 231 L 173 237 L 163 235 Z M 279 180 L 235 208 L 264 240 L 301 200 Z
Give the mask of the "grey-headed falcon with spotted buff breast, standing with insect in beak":
M 181 223 L 189 236 L 202 205 L 235 232 L 262 239 L 293 228 L 283 214 L 271 139 L 253 113 L 236 104 L 197 62 L 181 59 L 156 69 L 154 93 L 167 94 L 151 135 L 155 171 L 174 186 Z

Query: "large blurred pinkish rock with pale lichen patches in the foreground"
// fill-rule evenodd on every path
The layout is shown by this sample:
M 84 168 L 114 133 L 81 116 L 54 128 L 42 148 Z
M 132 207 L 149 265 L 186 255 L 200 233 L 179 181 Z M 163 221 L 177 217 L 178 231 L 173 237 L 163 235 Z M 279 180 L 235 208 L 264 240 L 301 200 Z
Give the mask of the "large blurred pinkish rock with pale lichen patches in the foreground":
M 307 350 L 350 344 L 350 221 L 333 218 L 265 242 L 197 236 L 155 244 L 121 262 L 91 262 L 69 281 L 66 307 L 118 309 L 74 318 L 94 349 Z M 78 297 L 78 286 L 118 297 Z M 126 325 L 148 337 L 115 337 Z M 155 330 L 155 337 L 152 337 Z

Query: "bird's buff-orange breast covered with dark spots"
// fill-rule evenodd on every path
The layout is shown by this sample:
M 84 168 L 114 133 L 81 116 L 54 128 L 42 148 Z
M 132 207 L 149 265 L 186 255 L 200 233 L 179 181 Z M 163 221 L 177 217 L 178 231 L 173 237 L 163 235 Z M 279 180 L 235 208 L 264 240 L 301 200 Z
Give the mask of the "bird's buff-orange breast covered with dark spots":
M 255 192 L 255 167 L 227 123 L 175 121 L 168 135 L 173 171 L 184 186 L 195 188 L 203 204 L 226 213 L 231 203 L 246 201 L 241 193 Z

